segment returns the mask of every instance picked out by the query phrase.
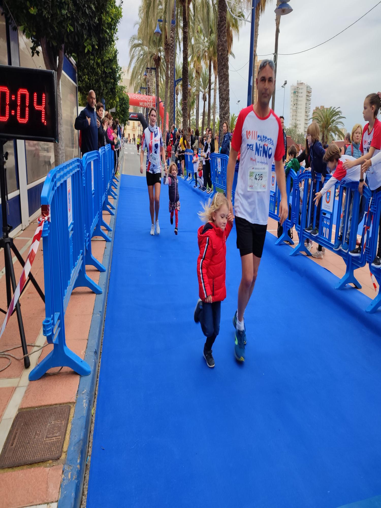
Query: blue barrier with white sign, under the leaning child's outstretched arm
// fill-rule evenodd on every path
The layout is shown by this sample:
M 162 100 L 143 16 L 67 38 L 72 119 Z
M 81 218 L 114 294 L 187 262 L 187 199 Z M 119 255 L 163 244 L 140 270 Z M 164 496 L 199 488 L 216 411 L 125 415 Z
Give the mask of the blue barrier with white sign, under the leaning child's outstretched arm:
M 357 240 L 357 230 L 358 230 L 358 217 L 360 211 L 360 194 L 357 190 L 358 183 L 351 182 L 347 185 L 339 185 L 339 182 L 336 183 L 334 187 L 331 187 L 327 194 L 323 196 L 320 206 L 316 207 L 313 199 L 315 197 L 315 193 L 319 192 L 324 183 L 326 183 L 331 175 L 327 175 L 325 178 L 325 182 L 321 181 L 322 175 L 316 174 L 316 184 L 311 184 L 311 172 L 304 171 L 300 172 L 298 178 L 296 180 L 296 185 L 294 186 L 294 194 L 295 194 L 295 204 L 293 207 L 293 220 L 296 226 L 296 230 L 299 235 L 299 243 L 295 247 L 295 249 L 291 252 L 290 256 L 296 256 L 298 252 L 305 251 L 308 256 L 311 256 L 311 253 L 306 248 L 304 241 L 308 238 L 313 240 L 326 249 L 329 249 L 335 252 L 338 256 L 341 256 L 346 264 L 346 271 L 344 276 L 340 279 L 338 284 L 336 285 L 336 289 L 342 289 L 346 284 L 353 283 L 357 288 L 361 288 L 360 282 L 356 279 L 354 275 L 354 270 L 357 268 L 364 267 L 367 261 L 366 251 L 361 249 L 361 253 L 358 257 L 351 256 L 349 251 L 356 247 Z M 301 187 L 302 186 L 302 187 Z M 301 188 L 303 188 L 302 199 L 301 196 Z M 339 197 L 336 202 L 335 207 L 335 194 L 336 189 L 339 188 Z M 307 189 L 307 192 L 305 192 Z M 343 228 L 342 228 L 342 239 L 345 241 L 348 233 L 348 229 L 350 226 L 350 207 L 352 201 L 352 223 L 350 230 L 350 238 L 349 238 L 349 248 L 348 251 L 345 252 L 342 249 L 334 250 L 334 244 L 336 243 L 338 236 L 340 235 L 340 227 L 341 227 L 341 203 L 343 200 L 343 193 L 347 196 L 350 196 L 350 199 L 345 200 L 345 206 L 343 211 Z M 363 208 L 368 209 L 369 202 L 371 198 L 371 192 L 368 187 L 364 187 L 363 192 Z M 354 191 L 354 192 L 353 192 Z M 301 207 L 299 206 L 301 202 Z M 296 206 L 298 205 L 298 206 Z M 306 231 L 306 228 L 312 225 L 316 227 L 319 231 L 317 236 L 312 236 L 311 232 Z M 333 226 L 336 225 L 335 233 L 332 235 Z

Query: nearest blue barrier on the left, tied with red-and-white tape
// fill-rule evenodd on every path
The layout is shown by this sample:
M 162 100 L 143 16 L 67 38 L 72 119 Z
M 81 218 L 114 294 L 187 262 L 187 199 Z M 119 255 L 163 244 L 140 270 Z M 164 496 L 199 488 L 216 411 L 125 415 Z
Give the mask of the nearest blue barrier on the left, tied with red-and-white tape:
M 45 316 L 43 333 L 53 350 L 29 374 L 39 379 L 52 367 L 67 366 L 81 375 L 90 367 L 73 353 L 65 340 L 65 311 L 74 288 L 102 293 L 85 270 L 83 166 L 79 158 L 52 169 L 41 193 L 41 208 L 49 219 L 42 237 L 44 249 Z

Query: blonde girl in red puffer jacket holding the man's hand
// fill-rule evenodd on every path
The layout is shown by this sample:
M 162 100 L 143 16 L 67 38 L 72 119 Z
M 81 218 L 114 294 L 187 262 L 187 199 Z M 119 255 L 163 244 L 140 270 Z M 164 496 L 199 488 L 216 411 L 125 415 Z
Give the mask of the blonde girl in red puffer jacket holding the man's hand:
M 228 200 L 221 193 L 216 193 L 199 215 L 206 224 L 198 230 L 200 299 L 194 317 L 206 337 L 204 358 L 208 367 L 214 367 L 212 345 L 219 332 L 221 301 L 226 298 L 226 239 L 232 231 L 233 215 L 229 212 Z

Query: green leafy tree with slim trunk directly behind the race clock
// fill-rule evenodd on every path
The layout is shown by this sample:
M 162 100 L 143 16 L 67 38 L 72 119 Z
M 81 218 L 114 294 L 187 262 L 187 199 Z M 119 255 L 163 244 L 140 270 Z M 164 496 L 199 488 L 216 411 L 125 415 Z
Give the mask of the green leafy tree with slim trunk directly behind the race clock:
M 47 69 L 57 73 L 57 117 L 59 143 L 54 144 L 55 164 L 65 161 L 60 79 L 65 54 L 102 50 L 115 37 L 121 18 L 121 5 L 116 0 L 12 0 L 4 4 L 4 12 L 12 23 L 31 40 L 32 55 L 41 46 Z M 12 16 L 11 16 L 12 14 Z M 13 26 L 16 29 L 15 26 Z

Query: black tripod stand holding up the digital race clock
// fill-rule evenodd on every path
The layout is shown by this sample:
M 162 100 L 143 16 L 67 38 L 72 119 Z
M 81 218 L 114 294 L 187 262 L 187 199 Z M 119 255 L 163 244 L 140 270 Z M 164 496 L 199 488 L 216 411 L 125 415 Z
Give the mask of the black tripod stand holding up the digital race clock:
M 0 139 L 0 197 L 2 200 L 2 218 L 3 218 L 3 237 L 0 239 L 0 248 L 3 247 L 3 249 L 4 249 L 5 282 L 6 282 L 6 287 L 7 287 L 7 307 L 9 307 L 11 300 L 12 300 L 11 283 L 12 283 L 13 293 L 15 292 L 15 289 L 16 289 L 16 279 L 15 279 L 15 272 L 13 269 L 11 250 L 13 250 L 14 255 L 16 256 L 17 260 L 19 261 L 19 263 L 21 264 L 22 267 L 24 267 L 25 263 L 24 263 L 24 260 L 22 259 L 20 252 L 17 250 L 15 244 L 13 243 L 13 238 L 9 237 L 9 233 L 12 230 L 12 226 L 10 226 L 8 224 L 8 220 L 7 220 L 8 188 L 7 188 L 6 161 L 8 160 L 8 152 L 4 153 L 4 144 L 5 143 L 6 143 L 6 140 Z M 41 296 L 43 302 L 45 303 L 44 293 L 41 291 L 40 286 L 38 285 L 36 279 L 33 277 L 33 275 L 31 273 L 29 273 L 28 280 L 26 281 L 26 284 L 24 285 L 23 290 L 26 288 L 29 280 L 34 285 L 38 294 Z M 20 301 L 18 301 L 16 303 L 15 310 L 16 310 L 16 314 L 17 314 L 18 328 L 20 331 L 22 352 L 23 352 L 23 355 L 26 355 L 28 353 L 28 350 L 27 350 L 26 341 L 25 341 L 24 325 L 22 323 Z M 7 311 L 2 308 L 0 308 L 0 311 L 4 312 L 5 314 L 7 313 Z M 24 358 L 24 366 L 26 369 L 28 367 L 30 367 L 30 361 L 29 361 L 28 356 L 26 356 Z

